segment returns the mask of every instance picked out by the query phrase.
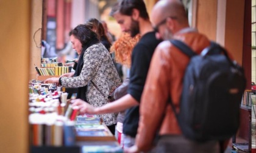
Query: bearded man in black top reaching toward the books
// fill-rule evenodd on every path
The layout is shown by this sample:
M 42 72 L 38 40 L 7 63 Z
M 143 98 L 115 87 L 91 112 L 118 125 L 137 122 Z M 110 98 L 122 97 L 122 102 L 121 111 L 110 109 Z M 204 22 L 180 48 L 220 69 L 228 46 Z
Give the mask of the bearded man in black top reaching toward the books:
M 135 143 L 139 121 L 138 105 L 152 55 L 160 40 L 155 38 L 155 32 L 149 21 L 143 0 L 123 0 L 113 7 L 111 15 L 120 24 L 123 32 L 129 32 L 132 37 L 138 33 L 141 35 L 140 41 L 132 52 L 128 94 L 119 100 L 97 108 L 82 100 L 74 100 L 72 103 L 73 106 L 79 106 L 80 112 L 88 114 L 105 114 L 127 109 L 123 123 L 124 148 L 127 148 Z

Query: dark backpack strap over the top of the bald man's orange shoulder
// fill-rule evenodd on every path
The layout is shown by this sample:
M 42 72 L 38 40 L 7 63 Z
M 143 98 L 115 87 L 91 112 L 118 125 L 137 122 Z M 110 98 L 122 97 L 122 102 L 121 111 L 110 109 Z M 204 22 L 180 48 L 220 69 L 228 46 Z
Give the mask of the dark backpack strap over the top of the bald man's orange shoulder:
M 189 56 L 190 58 L 194 55 L 196 55 L 196 53 L 187 46 L 187 44 L 185 44 L 184 42 L 177 40 L 177 39 L 171 39 L 169 40 L 175 47 L 177 47 L 180 51 L 182 51 L 183 53 L 185 53 L 187 56 Z

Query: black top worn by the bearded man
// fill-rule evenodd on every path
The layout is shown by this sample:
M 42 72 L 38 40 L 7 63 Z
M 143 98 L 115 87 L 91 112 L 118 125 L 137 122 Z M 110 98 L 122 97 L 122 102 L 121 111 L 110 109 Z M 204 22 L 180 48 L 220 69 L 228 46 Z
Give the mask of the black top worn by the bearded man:
M 161 41 L 155 38 L 155 32 L 143 35 L 132 52 L 132 67 L 130 68 L 130 83 L 128 94 L 140 102 L 144 84 L 149 70 L 152 55 Z M 139 106 L 126 110 L 123 123 L 123 133 L 135 137 L 138 129 Z

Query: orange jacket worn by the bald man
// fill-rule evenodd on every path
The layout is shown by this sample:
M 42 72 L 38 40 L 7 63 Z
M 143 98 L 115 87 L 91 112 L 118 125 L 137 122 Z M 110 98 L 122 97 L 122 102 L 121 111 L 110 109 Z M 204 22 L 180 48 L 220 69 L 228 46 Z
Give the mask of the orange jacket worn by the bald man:
M 196 53 L 201 53 L 210 45 L 206 36 L 192 29 L 183 29 L 173 38 L 185 42 Z M 148 151 L 151 148 L 159 128 L 160 135 L 181 134 L 168 97 L 171 97 L 179 112 L 182 78 L 189 60 L 187 55 L 172 46 L 169 41 L 161 42 L 155 50 L 140 104 L 136 144 L 141 151 Z

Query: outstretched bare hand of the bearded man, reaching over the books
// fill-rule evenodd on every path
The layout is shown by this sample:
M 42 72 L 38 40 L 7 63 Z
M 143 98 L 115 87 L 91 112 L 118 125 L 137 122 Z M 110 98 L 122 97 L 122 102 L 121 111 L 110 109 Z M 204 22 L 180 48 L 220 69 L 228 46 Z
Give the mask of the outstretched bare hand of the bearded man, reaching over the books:
M 90 104 L 86 103 L 83 100 L 76 99 L 71 100 L 72 107 L 78 106 L 78 110 L 80 114 L 96 114 L 96 107 L 91 106 Z

